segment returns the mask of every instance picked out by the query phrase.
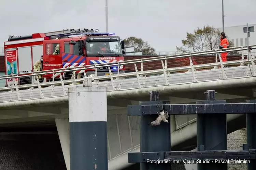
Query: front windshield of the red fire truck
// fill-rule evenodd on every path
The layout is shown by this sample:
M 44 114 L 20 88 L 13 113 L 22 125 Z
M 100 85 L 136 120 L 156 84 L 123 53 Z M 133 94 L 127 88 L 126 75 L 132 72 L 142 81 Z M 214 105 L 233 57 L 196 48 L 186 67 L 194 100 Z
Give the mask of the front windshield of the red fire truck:
M 122 55 L 122 47 L 120 41 L 102 41 L 102 42 L 87 42 L 87 54 L 100 53 L 102 55 L 115 54 Z

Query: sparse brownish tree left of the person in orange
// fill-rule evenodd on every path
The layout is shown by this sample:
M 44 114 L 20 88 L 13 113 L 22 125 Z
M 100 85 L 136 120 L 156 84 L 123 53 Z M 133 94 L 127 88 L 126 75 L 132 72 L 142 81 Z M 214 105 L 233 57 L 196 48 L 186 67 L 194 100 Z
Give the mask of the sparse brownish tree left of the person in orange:
M 226 35 L 228 38 L 228 36 Z M 187 32 L 186 39 L 181 40 L 183 47 L 176 47 L 179 52 L 198 52 L 206 50 L 215 50 L 219 48 L 221 43 L 221 32 L 214 27 L 204 26 L 194 30 L 193 33 Z M 229 40 L 229 47 L 234 47 L 234 44 Z M 238 52 L 230 52 L 229 54 L 238 54 Z

